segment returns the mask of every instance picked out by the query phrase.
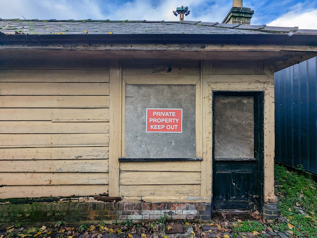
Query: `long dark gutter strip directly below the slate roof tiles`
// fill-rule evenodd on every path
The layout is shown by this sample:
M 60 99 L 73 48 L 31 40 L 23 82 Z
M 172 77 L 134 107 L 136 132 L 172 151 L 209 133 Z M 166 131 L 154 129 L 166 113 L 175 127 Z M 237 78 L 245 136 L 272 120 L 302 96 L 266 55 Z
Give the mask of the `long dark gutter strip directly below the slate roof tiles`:
M 317 46 L 317 35 L 288 34 L 65 34 L 0 35 L 0 45 L 52 44 L 238 44 Z

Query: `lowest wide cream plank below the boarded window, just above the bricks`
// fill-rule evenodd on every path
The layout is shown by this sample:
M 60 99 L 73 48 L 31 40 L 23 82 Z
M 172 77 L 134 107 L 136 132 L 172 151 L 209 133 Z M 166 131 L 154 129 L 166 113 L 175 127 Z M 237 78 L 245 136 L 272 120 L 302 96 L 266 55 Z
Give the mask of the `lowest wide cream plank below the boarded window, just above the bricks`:
M 144 178 L 146 179 L 146 178 Z M 200 184 L 183 185 L 120 185 L 120 196 L 200 196 Z

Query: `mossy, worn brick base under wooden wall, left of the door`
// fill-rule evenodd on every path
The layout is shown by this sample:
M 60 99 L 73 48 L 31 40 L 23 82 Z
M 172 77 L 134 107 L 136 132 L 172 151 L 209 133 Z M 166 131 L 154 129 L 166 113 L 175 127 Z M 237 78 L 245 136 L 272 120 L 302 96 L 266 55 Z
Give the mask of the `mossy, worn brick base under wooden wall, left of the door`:
M 99 223 L 124 224 L 127 220 L 209 220 L 211 203 L 149 202 L 51 202 L 32 204 L 0 204 L 1 223 Z

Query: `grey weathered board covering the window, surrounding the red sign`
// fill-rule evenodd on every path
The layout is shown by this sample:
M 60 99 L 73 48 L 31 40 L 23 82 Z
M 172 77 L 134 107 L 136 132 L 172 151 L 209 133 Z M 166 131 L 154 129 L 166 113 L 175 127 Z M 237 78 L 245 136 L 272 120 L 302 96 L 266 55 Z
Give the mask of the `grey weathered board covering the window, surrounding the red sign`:
M 183 109 L 182 133 L 147 133 L 147 108 Z M 195 85 L 127 84 L 125 158 L 195 157 Z

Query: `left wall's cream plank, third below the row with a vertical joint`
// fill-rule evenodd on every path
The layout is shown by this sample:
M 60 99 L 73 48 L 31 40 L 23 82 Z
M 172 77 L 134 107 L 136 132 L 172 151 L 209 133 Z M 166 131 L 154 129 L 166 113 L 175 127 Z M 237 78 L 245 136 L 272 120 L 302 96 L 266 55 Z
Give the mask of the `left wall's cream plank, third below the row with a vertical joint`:
M 0 148 L 0 160 L 108 159 L 108 147 Z

